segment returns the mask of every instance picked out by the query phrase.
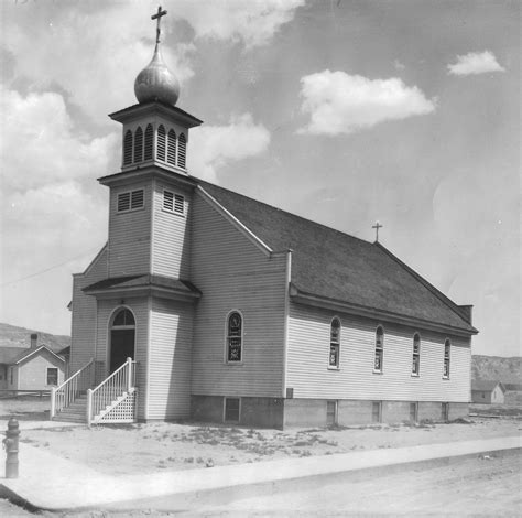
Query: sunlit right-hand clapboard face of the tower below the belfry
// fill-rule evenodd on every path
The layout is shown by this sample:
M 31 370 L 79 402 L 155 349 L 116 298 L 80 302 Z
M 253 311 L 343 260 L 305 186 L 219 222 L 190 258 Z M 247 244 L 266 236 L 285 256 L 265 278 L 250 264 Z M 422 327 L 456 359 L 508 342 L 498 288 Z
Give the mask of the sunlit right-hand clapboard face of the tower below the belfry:
M 185 214 L 163 209 L 163 191 L 185 198 Z M 191 274 L 191 193 L 164 182 L 155 182 L 153 193 L 152 273 L 188 279 Z

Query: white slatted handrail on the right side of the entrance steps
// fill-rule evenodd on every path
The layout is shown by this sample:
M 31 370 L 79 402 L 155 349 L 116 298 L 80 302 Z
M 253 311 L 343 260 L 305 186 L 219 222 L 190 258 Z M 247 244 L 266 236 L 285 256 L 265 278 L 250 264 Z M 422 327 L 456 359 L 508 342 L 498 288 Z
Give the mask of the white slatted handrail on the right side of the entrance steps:
M 96 416 L 106 410 L 115 400 L 134 388 L 134 365 L 135 361 L 132 358 L 127 358 L 126 363 L 101 384 L 87 390 L 88 425 L 91 424 Z

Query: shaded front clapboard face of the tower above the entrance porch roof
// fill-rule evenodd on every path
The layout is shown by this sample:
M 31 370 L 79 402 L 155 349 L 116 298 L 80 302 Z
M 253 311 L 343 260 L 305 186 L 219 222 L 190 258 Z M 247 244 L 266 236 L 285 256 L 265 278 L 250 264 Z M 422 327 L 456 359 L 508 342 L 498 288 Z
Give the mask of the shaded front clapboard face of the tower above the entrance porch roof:
M 118 194 L 144 190 L 144 207 L 117 212 Z M 151 183 L 118 186 L 110 190 L 109 277 L 148 273 L 151 258 Z

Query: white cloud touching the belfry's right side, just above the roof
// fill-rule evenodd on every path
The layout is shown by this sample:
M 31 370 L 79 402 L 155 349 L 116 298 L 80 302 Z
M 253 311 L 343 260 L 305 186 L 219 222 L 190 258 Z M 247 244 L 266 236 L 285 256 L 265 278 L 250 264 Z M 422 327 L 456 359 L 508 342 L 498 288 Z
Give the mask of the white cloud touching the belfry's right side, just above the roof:
M 204 126 L 191 133 L 189 171 L 200 179 L 215 181 L 227 163 L 255 157 L 267 150 L 270 132 L 255 125 L 250 114 L 232 117 L 228 126 Z

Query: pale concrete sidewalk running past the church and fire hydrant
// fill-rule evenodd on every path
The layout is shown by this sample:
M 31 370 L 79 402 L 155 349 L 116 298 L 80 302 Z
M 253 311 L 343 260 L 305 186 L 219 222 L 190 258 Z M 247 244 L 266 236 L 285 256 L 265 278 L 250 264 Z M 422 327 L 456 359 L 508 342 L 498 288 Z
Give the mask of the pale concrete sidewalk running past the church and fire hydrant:
M 132 509 L 143 508 L 144 503 L 148 508 L 154 508 L 154 498 L 162 500 L 162 509 L 166 506 L 170 510 L 182 510 L 186 508 L 187 498 L 196 494 L 230 487 L 274 484 L 521 446 L 520 436 L 498 438 L 113 477 L 21 443 L 20 477 L 4 478 L 2 462 L 0 490 L 2 496 L 48 510 Z

